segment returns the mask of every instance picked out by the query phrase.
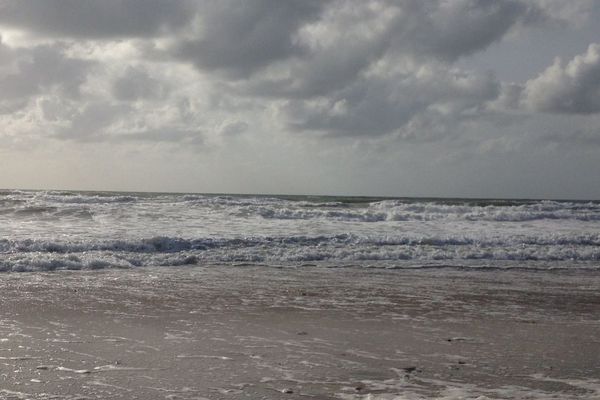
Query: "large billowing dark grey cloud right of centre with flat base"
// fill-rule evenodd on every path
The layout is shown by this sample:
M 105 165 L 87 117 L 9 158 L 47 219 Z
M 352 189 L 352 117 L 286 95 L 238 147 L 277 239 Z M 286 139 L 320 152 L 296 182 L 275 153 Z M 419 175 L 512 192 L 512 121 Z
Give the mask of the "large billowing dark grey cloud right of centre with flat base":
M 284 27 L 280 36 L 295 40 L 289 52 L 259 64 L 236 58 L 235 78 L 252 79 L 225 79 L 224 87 L 233 96 L 282 104 L 278 115 L 295 131 L 354 137 L 402 131 L 431 140 L 447 131 L 433 124 L 454 126 L 453 118 L 483 112 L 500 94 L 492 74 L 460 71 L 453 61 L 501 40 L 528 12 L 519 1 L 334 1 L 319 18 L 311 14 Z M 211 20 L 220 29 L 231 26 Z M 243 43 L 228 41 L 233 49 Z M 210 71 L 205 63 L 212 58 L 196 50 L 196 67 Z M 438 134 L 416 135 L 415 126 Z

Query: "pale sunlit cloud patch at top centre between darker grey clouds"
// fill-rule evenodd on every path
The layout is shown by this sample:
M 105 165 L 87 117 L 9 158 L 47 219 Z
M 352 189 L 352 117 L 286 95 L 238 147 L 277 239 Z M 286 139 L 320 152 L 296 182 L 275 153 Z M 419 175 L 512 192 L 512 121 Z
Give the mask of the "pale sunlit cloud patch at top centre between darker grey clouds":
M 374 2 L 336 2 L 303 26 L 302 56 L 244 82 L 248 95 L 282 98 L 324 96 L 342 89 L 389 49 L 397 9 Z

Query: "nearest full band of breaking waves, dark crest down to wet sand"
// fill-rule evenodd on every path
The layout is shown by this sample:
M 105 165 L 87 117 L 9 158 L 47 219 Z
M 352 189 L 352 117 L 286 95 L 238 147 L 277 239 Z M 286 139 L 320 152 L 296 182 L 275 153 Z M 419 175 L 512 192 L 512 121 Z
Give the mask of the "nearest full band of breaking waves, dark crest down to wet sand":
M 196 238 L 152 237 L 139 240 L 0 240 L 0 270 L 133 268 L 141 266 L 319 265 L 373 263 L 406 266 L 436 262 L 484 265 L 488 262 L 600 261 L 600 235 L 551 235 L 476 239 L 473 237 L 293 237 Z

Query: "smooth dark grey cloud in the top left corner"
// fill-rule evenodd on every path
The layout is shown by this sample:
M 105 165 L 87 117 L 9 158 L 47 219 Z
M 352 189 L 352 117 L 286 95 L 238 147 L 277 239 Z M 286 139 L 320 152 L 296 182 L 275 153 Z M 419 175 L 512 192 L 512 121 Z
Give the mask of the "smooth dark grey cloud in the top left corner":
M 151 36 L 194 16 L 187 0 L 0 0 L 0 24 L 51 36 Z

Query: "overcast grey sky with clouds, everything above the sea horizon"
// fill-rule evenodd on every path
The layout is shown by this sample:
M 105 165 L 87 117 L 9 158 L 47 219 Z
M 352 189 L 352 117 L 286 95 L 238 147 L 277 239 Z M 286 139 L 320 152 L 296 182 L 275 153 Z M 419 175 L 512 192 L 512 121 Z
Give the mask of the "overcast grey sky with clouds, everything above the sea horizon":
M 600 198 L 600 1 L 0 0 L 0 188 Z

